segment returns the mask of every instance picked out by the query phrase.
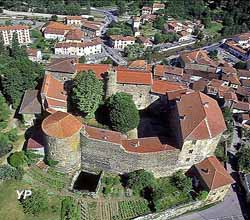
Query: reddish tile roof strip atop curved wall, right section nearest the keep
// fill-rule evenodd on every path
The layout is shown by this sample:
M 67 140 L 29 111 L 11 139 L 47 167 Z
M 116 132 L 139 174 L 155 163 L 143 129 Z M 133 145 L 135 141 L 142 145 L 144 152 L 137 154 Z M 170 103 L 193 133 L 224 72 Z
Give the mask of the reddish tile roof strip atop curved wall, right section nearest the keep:
M 163 145 L 158 137 L 147 137 L 131 140 L 123 140 L 122 146 L 128 152 L 132 153 L 154 153 L 160 151 L 172 151 L 176 148 Z

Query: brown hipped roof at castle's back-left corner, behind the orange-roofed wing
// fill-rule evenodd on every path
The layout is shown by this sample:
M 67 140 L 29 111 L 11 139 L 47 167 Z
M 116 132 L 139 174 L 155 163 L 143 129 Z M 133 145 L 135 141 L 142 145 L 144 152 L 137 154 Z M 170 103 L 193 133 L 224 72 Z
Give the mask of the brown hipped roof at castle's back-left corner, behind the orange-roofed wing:
M 46 70 L 51 72 L 62 72 L 62 73 L 75 73 L 76 71 L 76 58 L 57 58 L 51 60 L 46 66 Z

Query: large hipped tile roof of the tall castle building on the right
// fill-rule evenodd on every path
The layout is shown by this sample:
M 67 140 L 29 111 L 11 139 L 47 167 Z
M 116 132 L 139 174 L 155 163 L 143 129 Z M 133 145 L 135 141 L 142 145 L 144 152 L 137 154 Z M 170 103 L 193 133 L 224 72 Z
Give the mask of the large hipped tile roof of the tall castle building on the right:
M 177 101 L 183 140 L 210 139 L 226 130 L 226 124 L 216 100 L 193 92 Z

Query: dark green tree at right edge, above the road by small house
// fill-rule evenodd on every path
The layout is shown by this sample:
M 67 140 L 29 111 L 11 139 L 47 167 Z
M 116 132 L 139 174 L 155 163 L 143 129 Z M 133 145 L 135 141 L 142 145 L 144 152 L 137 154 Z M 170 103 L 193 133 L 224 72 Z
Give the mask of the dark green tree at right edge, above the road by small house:
M 246 144 L 237 152 L 236 158 L 240 172 L 250 173 L 250 145 Z

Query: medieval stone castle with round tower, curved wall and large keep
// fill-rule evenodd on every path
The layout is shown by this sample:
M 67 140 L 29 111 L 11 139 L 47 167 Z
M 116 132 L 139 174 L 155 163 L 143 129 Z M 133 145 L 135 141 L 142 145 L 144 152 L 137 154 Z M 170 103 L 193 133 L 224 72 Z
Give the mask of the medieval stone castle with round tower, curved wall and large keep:
M 106 96 L 123 91 L 133 95 L 139 109 L 153 104 L 151 75 L 134 71 L 130 77 L 130 73 L 123 67 L 108 71 Z M 142 79 L 148 79 L 148 84 Z M 58 161 L 57 168 L 62 172 L 84 169 L 126 173 L 145 169 L 157 177 L 187 170 L 213 155 L 226 129 L 217 101 L 200 92 L 183 93 L 183 89 L 171 100 L 166 95 L 158 94 L 158 98 L 165 108 L 162 120 L 168 118 L 173 141 L 158 136 L 128 139 L 119 132 L 88 126 L 75 116 L 54 109 L 42 123 L 47 155 Z

